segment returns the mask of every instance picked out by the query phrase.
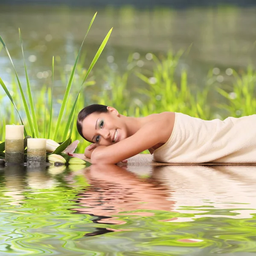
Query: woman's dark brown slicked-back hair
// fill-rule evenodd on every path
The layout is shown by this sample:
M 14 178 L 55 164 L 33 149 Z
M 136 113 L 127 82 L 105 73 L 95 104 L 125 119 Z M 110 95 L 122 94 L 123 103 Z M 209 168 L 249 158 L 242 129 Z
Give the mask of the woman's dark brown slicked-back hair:
M 83 108 L 78 116 L 77 116 L 77 121 L 76 121 L 76 128 L 77 131 L 79 132 L 79 134 L 81 135 L 81 137 L 84 138 L 84 140 L 87 140 L 84 135 L 82 134 L 82 122 L 84 121 L 84 118 L 86 118 L 87 116 L 89 116 L 92 113 L 105 113 L 108 112 L 108 106 L 105 105 L 100 105 L 100 104 L 93 104 L 93 105 L 89 105 L 85 108 Z M 87 140 L 89 142 L 91 142 L 90 140 Z

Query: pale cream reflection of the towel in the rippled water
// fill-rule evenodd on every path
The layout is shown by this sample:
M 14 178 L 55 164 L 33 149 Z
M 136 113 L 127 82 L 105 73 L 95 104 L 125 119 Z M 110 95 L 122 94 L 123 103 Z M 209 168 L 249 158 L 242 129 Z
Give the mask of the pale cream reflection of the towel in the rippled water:
M 250 214 L 256 213 L 256 166 L 162 166 L 152 177 L 173 191 L 169 198 L 176 202 L 175 211 L 187 212 L 180 207 L 199 207 L 195 208 L 197 211 L 188 211 L 197 213 L 193 218 L 202 217 L 200 213 L 212 207 L 238 209 L 233 211 L 238 214 L 229 218 L 251 218 Z

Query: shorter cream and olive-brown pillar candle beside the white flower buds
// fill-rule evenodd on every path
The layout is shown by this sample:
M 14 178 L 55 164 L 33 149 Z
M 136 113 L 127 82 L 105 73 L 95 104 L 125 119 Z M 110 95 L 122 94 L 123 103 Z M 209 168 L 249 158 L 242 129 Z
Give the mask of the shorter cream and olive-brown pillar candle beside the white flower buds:
M 46 162 L 46 139 L 27 140 L 27 163 L 40 164 Z

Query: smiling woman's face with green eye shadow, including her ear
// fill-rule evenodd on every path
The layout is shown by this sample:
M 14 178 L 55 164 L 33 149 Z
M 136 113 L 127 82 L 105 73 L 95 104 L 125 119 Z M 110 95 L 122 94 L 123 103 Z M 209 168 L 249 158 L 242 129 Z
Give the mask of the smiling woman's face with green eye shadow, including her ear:
M 84 137 L 99 145 L 109 146 L 127 138 L 127 127 L 115 108 L 107 113 L 94 112 L 82 122 Z

